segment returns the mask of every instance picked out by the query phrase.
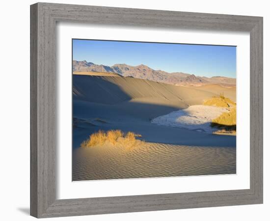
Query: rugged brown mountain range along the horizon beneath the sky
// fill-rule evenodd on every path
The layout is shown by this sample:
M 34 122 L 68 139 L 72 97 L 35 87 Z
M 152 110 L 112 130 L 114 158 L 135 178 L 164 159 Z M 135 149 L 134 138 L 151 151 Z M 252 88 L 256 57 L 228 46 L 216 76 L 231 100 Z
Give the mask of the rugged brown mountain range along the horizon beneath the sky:
M 114 64 L 113 66 L 99 65 L 86 60 L 73 60 L 73 72 L 105 72 L 115 73 L 124 77 L 147 79 L 154 82 L 169 83 L 174 85 L 201 86 L 206 84 L 219 84 L 225 87 L 236 86 L 235 78 L 227 77 L 199 77 L 183 72 L 168 73 L 162 70 L 154 70 L 144 64 L 131 66 L 127 64 Z

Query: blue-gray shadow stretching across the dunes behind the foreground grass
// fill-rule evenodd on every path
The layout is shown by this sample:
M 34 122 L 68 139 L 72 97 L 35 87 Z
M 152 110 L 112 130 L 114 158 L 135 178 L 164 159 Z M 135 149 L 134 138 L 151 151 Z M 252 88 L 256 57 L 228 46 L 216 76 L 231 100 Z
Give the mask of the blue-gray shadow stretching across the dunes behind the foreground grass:
M 115 129 L 141 134 L 148 142 L 236 147 L 236 136 L 207 134 L 151 123 L 155 117 L 179 110 L 183 105 L 181 100 L 164 99 L 162 104 L 133 102 L 132 97 L 120 86 L 106 81 L 105 78 L 76 75 L 73 76 L 73 82 L 73 117 L 76 121 L 82 119 L 82 123 L 73 129 L 75 148 L 98 130 Z M 151 87 L 149 94 L 151 95 Z M 95 122 L 93 119 L 102 119 L 105 123 Z

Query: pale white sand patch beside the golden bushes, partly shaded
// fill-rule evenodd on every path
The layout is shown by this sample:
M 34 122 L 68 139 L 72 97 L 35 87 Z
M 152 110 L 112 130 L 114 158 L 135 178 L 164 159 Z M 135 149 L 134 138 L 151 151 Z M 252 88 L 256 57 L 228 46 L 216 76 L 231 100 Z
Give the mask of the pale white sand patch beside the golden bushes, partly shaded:
M 217 129 L 211 127 L 211 122 L 223 112 L 228 112 L 228 110 L 226 108 L 205 105 L 192 105 L 187 109 L 173 111 L 154 118 L 152 123 L 213 133 Z

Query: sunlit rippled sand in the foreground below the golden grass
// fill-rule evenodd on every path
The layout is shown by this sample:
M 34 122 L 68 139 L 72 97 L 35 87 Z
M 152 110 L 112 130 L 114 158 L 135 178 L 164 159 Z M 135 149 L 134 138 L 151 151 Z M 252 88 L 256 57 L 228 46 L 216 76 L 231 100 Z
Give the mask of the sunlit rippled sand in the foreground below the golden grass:
M 235 147 L 146 143 L 78 148 L 73 156 L 74 181 L 236 173 Z

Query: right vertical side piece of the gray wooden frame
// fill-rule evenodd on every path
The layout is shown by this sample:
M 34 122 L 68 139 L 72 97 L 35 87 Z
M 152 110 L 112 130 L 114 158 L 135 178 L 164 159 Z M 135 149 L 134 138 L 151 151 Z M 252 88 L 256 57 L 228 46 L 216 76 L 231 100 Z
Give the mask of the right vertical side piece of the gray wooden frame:
M 263 201 L 263 20 L 250 31 L 250 189 Z

